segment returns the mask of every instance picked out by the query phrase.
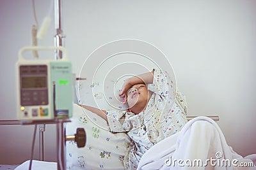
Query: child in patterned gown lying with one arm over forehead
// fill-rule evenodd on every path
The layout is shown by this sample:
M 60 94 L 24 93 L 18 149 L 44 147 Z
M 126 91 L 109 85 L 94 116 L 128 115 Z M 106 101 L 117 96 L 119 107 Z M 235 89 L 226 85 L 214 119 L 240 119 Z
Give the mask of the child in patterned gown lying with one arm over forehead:
M 104 118 L 111 132 L 127 132 L 132 142 L 124 157 L 124 167 L 137 169 L 149 148 L 186 124 L 186 99 L 179 92 L 173 98 L 172 80 L 158 69 L 125 80 L 119 96 L 124 97 L 128 110 L 106 111 L 84 105 L 83 108 Z

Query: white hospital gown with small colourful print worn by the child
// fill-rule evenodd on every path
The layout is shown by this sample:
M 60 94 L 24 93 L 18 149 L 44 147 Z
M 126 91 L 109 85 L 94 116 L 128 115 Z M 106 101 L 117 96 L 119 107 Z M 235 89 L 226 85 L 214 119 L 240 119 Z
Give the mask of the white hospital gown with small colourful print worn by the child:
M 135 115 L 122 110 L 107 111 L 110 131 L 125 131 L 132 139 L 124 157 L 125 169 L 136 169 L 149 148 L 186 124 L 186 99 L 179 92 L 176 92 L 176 100 L 173 99 L 172 85 L 168 74 L 154 69 L 153 83 L 147 85 L 154 93 L 143 112 Z

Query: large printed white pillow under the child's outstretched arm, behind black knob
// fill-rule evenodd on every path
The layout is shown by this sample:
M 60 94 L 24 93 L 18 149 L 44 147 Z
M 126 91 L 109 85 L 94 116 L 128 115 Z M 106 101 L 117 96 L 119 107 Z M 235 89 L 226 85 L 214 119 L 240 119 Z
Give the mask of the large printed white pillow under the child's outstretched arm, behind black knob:
M 66 143 L 67 169 L 124 169 L 123 159 L 130 139 L 124 132 L 109 132 L 106 121 L 77 104 L 73 107 L 72 122 L 66 125 L 66 134 L 76 129 L 86 131 L 86 145 L 77 148 L 72 141 Z

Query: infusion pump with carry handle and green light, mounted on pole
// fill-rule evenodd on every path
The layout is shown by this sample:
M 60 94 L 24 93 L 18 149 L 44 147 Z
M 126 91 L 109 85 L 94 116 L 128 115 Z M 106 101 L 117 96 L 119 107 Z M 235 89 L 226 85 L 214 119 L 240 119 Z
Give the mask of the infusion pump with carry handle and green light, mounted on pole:
M 72 117 L 72 64 L 60 60 L 26 60 L 26 50 L 49 50 L 57 47 L 28 46 L 20 50 L 17 62 L 17 112 L 20 120 L 51 120 Z M 65 48 L 59 50 L 65 52 Z

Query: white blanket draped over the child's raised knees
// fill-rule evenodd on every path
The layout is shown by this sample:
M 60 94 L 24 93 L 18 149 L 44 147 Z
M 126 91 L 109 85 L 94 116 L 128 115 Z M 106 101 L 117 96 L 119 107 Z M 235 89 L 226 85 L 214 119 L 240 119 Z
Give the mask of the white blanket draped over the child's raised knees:
M 138 169 L 256 169 L 255 162 L 256 154 L 243 158 L 234 152 L 211 118 L 196 117 L 150 148 Z

